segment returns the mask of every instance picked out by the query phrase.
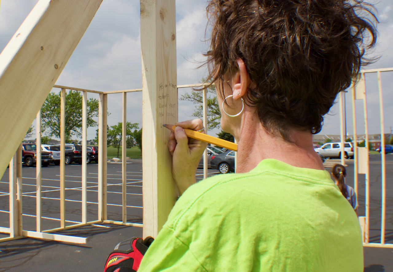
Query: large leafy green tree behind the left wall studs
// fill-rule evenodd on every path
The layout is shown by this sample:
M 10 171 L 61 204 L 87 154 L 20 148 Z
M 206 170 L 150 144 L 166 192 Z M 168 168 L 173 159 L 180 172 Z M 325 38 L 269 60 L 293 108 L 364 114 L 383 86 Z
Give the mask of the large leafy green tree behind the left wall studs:
M 60 138 L 60 92 L 50 93 L 42 105 L 42 130 L 49 130 L 48 136 Z M 78 91 L 66 92 L 65 138 L 71 141 L 72 135 L 82 137 L 82 96 Z M 87 101 L 87 127 L 97 125 L 93 119 L 98 116 L 98 100 Z

